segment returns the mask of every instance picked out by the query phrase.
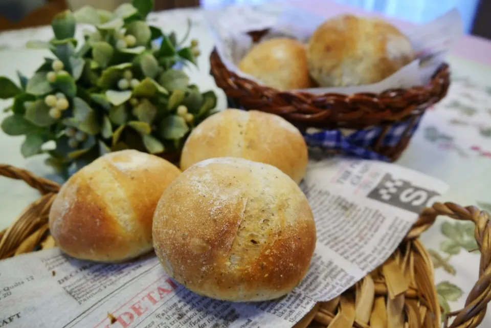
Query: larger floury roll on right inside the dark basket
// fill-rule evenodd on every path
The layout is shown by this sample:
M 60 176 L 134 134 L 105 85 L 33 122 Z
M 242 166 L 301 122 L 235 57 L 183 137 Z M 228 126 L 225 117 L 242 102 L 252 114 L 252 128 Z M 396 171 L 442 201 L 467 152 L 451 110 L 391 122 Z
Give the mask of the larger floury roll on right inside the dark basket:
M 415 57 L 410 40 L 390 23 L 344 14 L 326 20 L 308 43 L 310 75 L 320 86 L 375 83 Z

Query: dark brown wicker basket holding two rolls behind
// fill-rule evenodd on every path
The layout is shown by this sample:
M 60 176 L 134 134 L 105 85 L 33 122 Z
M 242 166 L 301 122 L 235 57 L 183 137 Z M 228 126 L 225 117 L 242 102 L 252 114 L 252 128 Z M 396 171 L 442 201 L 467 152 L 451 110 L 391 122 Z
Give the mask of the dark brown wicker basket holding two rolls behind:
M 267 29 L 252 31 L 249 35 L 254 42 L 258 42 L 267 31 Z M 230 107 L 279 115 L 296 125 L 304 134 L 309 127 L 325 130 L 349 129 L 355 132 L 371 129 L 376 131 L 376 136 L 369 140 L 369 144 L 363 140 L 360 144 L 354 142 L 353 146 L 363 147 L 390 161 L 399 158 L 406 149 L 422 115 L 431 105 L 447 95 L 450 85 L 447 63 L 438 68 L 426 85 L 408 89 L 391 89 L 380 94 L 353 95 L 281 92 L 257 84 L 229 71 L 216 49 L 210 55 L 210 66 L 210 73 L 216 85 L 227 95 Z M 397 134 L 396 140 L 387 138 L 395 123 L 398 123 L 399 127 L 401 125 L 406 127 Z M 321 147 L 338 154 L 345 152 L 328 145 Z

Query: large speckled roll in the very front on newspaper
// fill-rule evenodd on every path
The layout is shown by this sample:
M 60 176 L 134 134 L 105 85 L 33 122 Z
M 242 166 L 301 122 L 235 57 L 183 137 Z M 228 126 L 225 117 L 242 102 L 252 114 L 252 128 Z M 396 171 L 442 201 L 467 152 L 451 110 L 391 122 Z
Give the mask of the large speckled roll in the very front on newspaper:
M 153 243 L 165 271 L 189 290 L 262 301 L 300 283 L 316 228 L 305 195 L 279 169 L 214 158 L 193 165 L 164 191 Z

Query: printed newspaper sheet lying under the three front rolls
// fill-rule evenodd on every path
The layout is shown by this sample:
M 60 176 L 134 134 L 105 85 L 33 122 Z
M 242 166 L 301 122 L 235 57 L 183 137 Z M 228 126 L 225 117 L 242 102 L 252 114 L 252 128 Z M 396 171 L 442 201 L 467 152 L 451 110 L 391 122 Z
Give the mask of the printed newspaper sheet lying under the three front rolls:
M 301 183 L 317 227 L 309 271 L 284 297 L 228 302 L 171 279 L 157 257 L 77 260 L 59 249 L 0 261 L 0 327 L 289 328 L 384 263 L 444 183 L 394 164 L 311 160 Z

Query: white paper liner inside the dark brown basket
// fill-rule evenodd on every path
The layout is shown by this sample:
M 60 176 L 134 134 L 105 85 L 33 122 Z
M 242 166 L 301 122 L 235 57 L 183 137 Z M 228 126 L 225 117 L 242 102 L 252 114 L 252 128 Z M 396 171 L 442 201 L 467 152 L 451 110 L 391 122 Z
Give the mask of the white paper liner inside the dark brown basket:
M 257 19 L 261 14 L 260 9 L 243 10 L 239 13 L 224 10 L 205 11 L 205 21 L 215 41 L 218 55 L 228 70 L 237 75 L 251 79 L 258 84 L 261 81 L 244 73 L 237 67 L 240 60 L 254 46 L 252 38 L 247 32 L 255 30 Z M 265 14 L 270 14 L 266 11 Z M 264 15 L 265 15 L 264 14 Z M 262 40 L 286 36 L 292 37 L 307 44 L 311 34 L 330 16 L 317 16 L 316 14 L 296 7 L 285 7 L 278 14 L 274 23 L 270 26 L 261 26 L 261 29 L 269 28 Z M 244 21 L 250 21 L 248 28 Z M 242 24 L 237 24 L 241 21 Z M 271 21 L 271 19 L 270 19 Z M 240 29 L 237 30 L 237 25 Z M 409 88 L 421 85 L 429 81 L 445 56 L 454 45 L 454 42 L 463 34 L 463 23 L 457 9 L 453 9 L 427 24 L 403 30 L 410 39 L 416 53 L 416 59 L 408 63 L 384 80 L 367 85 L 343 86 L 336 88 L 310 88 L 302 89 L 303 92 L 314 94 L 342 93 L 353 94 L 360 92 L 379 93 L 393 88 Z

